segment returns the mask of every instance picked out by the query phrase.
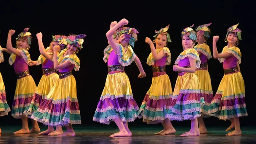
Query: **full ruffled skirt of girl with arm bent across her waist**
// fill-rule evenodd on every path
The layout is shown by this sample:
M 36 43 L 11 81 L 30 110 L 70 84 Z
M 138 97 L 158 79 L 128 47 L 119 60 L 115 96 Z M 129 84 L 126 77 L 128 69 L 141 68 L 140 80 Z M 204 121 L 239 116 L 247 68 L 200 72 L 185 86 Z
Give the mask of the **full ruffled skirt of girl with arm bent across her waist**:
M 204 104 L 201 85 L 195 73 L 179 74 L 172 96 L 172 120 L 192 120 L 201 116 Z

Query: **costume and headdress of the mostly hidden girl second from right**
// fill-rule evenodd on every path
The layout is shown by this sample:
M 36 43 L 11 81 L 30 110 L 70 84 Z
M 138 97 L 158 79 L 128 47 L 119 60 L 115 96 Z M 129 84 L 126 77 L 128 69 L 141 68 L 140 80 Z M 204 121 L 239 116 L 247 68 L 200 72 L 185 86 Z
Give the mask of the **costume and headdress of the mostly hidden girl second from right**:
M 211 24 L 212 23 L 200 25 L 195 30 L 199 31 L 199 33 L 204 36 L 205 40 L 208 40 L 211 33 L 208 26 Z M 201 54 L 199 55 L 201 60 L 200 68 L 197 68 L 195 71 L 195 74 L 198 76 L 198 80 L 201 84 L 204 101 L 205 101 L 204 106 L 201 107 L 201 110 L 202 110 L 201 115 L 203 117 L 209 117 L 208 110 L 212 102 L 213 92 L 212 92 L 211 78 L 207 70 L 207 61 L 210 58 L 212 58 L 212 54 L 209 46 L 206 43 L 196 45 L 195 50 L 201 52 Z

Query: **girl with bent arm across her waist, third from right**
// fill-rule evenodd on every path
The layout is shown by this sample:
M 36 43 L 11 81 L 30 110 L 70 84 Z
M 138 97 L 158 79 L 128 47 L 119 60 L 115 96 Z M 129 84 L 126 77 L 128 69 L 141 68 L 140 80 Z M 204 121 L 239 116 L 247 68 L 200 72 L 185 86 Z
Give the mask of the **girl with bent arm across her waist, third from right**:
M 200 68 L 201 64 L 198 52 L 194 49 L 197 37 L 191 27 L 187 27 L 181 32 L 185 50 L 180 53 L 173 65 L 173 71 L 178 71 L 179 74 L 172 96 L 173 115 L 171 119 L 191 120 L 189 132 L 180 136 L 199 136 L 197 118 L 201 116 L 201 105 L 204 103 L 201 85 L 195 75 L 195 69 Z

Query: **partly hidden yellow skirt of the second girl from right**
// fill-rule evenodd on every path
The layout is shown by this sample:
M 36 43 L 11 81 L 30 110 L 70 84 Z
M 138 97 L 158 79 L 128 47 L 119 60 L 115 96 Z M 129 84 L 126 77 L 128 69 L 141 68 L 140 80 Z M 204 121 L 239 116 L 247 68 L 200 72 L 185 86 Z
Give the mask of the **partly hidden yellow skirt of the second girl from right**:
M 201 85 L 205 104 L 201 107 L 201 115 L 204 118 L 209 117 L 208 110 L 213 99 L 212 84 L 209 72 L 207 70 L 197 70 L 195 74 Z

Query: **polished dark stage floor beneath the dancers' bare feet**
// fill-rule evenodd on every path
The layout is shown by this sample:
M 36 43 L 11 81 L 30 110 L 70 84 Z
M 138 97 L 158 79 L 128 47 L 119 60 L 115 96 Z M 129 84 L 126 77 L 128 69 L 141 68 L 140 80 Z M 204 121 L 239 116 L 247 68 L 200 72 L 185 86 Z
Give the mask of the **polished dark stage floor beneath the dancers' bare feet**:
M 132 137 L 110 138 L 118 131 L 116 126 L 79 126 L 75 125 L 74 137 L 41 136 L 34 134 L 13 134 L 20 126 L 1 126 L 0 143 L 7 144 L 256 144 L 256 127 L 241 127 L 242 136 L 226 136 L 226 127 L 208 127 L 207 134 L 196 137 L 180 137 L 189 127 L 175 127 L 176 133 L 159 136 L 154 133 L 162 127 L 130 127 Z M 64 128 L 64 127 L 63 127 Z M 46 130 L 41 126 L 41 131 Z

